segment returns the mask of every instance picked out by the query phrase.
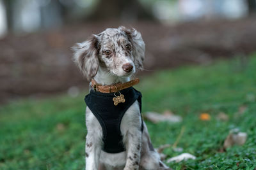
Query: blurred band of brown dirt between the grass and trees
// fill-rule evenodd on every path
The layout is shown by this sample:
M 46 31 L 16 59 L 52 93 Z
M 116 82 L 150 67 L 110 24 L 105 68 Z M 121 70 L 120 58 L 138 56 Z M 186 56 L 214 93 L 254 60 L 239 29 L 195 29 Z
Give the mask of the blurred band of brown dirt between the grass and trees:
M 95 22 L 35 34 L 9 34 L 0 40 L 0 103 L 55 94 L 73 86 L 86 87 L 87 82 L 71 60 L 70 47 L 92 33 L 118 25 L 132 25 L 141 32 L 146 43 L 145 69 L 151 71 L 246 55 L 254 52 L 256 46 L 255 17 L 169 26 L 156 22 Z

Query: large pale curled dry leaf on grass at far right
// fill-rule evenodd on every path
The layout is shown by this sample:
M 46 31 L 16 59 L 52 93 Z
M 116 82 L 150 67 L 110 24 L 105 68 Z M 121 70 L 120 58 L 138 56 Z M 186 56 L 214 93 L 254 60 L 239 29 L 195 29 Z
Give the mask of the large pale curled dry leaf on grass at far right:
M 239 132 L 238 129 L 233 129 L 225 139 L 223 147 L 226 149 L 234 145 L 244 145 L 246 138 L 246 132 Z

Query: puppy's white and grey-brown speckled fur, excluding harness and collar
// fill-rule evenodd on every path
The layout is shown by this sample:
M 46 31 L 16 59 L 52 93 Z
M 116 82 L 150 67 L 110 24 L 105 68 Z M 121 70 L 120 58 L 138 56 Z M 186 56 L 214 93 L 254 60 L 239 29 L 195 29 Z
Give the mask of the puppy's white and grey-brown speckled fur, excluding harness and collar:
M 140 32 L 135 29 L 106 29 L 93 35 L 88 41 L 73 47 L 74 61 L 84 76 L 94 78 L 103 85 L 130 81 L 132 74 L 143 69 L 145 43 Z M 128 64 L 131 70 L 124 71 Z M 161 162 L 154 150 L 147 126 L 141 132 L 141 116 L 138 101 L 125 112 L 121 122 L 121 132 L 126 148 L 121 153 L 106 153 L 102 148 L 102 129 L 86 108 L 86 170 L 97 169 L 170 169 Z

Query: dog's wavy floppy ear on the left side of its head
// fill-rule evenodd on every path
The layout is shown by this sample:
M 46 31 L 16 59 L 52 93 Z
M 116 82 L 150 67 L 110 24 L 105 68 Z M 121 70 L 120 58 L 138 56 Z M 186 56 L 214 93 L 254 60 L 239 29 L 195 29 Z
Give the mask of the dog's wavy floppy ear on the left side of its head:
M 76 46 L 72 47 L 72 50 L 74 51 L 74 62 L 76 62 L 88 81 L 97 74 L 99 67 L 99 48 L 99 40 L 96 35 L 93 35 L 87 41 L 77 43 Z

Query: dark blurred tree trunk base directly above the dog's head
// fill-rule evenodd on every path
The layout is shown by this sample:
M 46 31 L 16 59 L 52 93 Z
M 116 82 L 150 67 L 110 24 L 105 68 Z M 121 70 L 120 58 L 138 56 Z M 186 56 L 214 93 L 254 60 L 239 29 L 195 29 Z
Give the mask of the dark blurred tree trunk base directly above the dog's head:
M 89 19 L 152 20 L 154 16 L 138 0 L 100 0 Z

